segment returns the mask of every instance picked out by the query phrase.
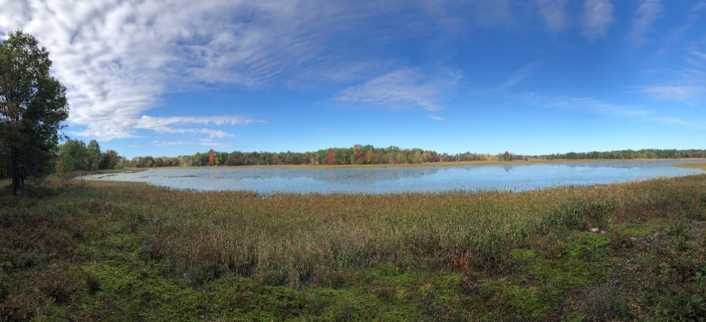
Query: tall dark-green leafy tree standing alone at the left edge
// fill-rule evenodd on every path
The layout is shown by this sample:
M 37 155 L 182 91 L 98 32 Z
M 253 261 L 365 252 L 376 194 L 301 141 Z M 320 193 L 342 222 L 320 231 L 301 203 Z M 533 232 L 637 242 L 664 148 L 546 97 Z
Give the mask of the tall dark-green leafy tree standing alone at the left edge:
M 68 102 L 51 67 L 49 52 L 32 35 L 16 30 L 0 43 L 0 153 L 10 164 L 13 195 L 28 176 L 54 168 Z

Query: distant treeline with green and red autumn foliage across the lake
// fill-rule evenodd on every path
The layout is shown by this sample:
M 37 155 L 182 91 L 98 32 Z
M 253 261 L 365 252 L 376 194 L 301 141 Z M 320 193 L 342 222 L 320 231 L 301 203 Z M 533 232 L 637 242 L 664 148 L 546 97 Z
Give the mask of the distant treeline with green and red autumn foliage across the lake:
M 218 152 L 207 151 L 178 157 L 136 156 L 123 160 L 121 166 L 156 168 L 164 166 L 270 166 L 270 165 L 359 165 L 359 164 L 411 164 L 463 161 L 517 161 L 517 160 L 582 160 L 582 159 L 689 159 L 706 158 L 703 149 L 641 149 L 620 151 L 569 152 L 526 156 L 505 151 L 501 154 L 440 154 L 422 149 L 399 147 L 376 148 L 356 144 L 349 148 L 330 148 L 312 152 Z

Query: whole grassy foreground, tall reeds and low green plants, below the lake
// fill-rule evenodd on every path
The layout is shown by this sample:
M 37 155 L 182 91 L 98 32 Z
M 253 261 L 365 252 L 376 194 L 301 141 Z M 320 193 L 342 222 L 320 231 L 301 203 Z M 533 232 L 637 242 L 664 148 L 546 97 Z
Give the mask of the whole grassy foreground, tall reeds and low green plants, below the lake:
M 0 321 L 706 316 L 706 175 L 528 192 L 0 192 Z

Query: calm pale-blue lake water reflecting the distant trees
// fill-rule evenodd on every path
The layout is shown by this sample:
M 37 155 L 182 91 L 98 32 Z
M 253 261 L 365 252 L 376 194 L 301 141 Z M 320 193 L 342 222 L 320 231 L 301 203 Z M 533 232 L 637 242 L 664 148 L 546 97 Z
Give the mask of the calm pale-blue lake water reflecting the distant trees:
M 137 173 L 91 175 L 88 179 L 148 182 L 153 185 L 189 190 L 249 190 L 263 194 L 522 191 L 558 185 L 594 185 L 703 173 L 698 169 L 674 166 L 675 163 L 688 162 L 635 161 L 333 169 L 161 168 Z

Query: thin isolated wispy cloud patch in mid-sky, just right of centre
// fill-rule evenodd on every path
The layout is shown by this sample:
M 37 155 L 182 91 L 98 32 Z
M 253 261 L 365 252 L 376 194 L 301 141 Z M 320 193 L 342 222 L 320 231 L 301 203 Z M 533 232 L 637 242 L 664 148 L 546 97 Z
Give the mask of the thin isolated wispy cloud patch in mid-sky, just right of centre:
M 414 109 L 426 111 L 443 109 L 437 100 L 448 87 L 455 85 L 459 76 L 430 78 L 419 70 L 393 70 L 361 85 L 343 89 L 334 99 L 349 103 L 364 103 L 384 109 Z

